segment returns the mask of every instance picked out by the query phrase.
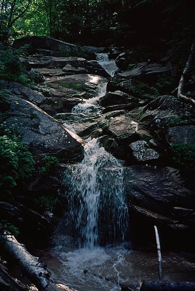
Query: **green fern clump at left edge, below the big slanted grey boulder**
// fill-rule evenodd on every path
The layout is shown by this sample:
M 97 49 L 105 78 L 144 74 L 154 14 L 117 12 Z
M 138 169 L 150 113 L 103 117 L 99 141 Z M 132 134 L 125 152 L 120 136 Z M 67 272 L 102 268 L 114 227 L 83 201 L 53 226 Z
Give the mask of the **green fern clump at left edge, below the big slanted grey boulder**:
M 0 189 L 1 195 L 12 194 L 19 182 L 25 182 L 34 172 L 35 161 L 20 136 L 1 125 L 0 128 Z

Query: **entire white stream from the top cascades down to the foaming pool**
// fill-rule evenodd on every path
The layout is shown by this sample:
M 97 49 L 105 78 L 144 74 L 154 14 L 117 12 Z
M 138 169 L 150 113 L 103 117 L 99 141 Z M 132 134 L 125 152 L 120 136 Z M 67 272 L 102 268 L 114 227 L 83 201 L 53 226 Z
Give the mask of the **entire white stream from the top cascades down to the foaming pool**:
M 98 54 L 97 61 L 114 75 L 118 69 L 107 54 Z M 72 113 L 99 112 L 97 101 L 106 93 L 105 83 L 97 87 L 95 97 L 76 105 Z M 128 251 L 124 242 L 128 228 L 128 208 L 123 193 L 123 170 L 116 158 L 99 145 L 98 139 L 88 139 L 84 159 L 70 166 L 64 177 L 68 191 L 70 215 L 79 233 L 80 248 L 68 252 L 60 245 L 53 249 L 63 268 L 61 278 L 72 290 L 120 291 L 130 265 L 125 260 Z M 118 246 L 100 247 L 102 243 Z

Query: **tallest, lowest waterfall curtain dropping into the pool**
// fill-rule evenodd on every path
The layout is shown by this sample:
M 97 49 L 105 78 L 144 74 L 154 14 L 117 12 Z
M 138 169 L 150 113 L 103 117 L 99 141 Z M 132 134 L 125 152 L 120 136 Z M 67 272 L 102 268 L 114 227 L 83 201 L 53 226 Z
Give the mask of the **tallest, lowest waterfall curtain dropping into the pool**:
M 123 195 L 123 172 L 120 163 L 92 139 L 85 146 L 83 161 L 73 168 L 69 178 L 69 206 L 80 230 L 80 245 L 98 245 L 101 212 L 106 221 L 108 240 L 123 241 L 127 230 L 128 209 Z M 79 201 L 75 205 L 75 201 Z

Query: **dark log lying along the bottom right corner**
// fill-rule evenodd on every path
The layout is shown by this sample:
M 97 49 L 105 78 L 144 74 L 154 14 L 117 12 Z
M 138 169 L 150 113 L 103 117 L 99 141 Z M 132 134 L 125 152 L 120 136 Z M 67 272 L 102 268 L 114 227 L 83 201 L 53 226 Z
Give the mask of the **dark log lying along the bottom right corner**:
M 139 291 L 195 291 L 195 282 L 145 280 Z

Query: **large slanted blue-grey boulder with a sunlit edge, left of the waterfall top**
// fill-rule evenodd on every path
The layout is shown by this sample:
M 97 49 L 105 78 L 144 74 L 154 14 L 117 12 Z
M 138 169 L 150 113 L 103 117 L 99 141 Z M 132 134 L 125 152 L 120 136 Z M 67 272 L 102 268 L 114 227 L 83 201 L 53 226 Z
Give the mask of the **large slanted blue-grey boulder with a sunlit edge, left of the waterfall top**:
M 81 160 L 85 142 L 36 105 L 14 95 L 6 125 L 20 131 L 22 140 L 36 155 L 54 155 L 62 161 Z

